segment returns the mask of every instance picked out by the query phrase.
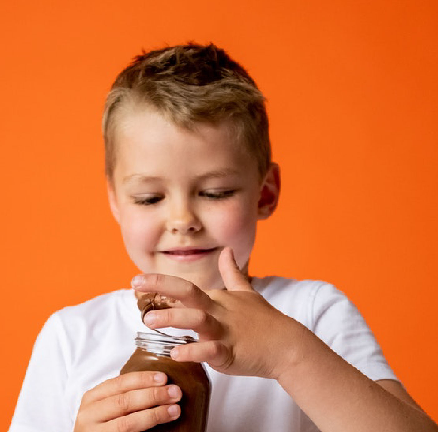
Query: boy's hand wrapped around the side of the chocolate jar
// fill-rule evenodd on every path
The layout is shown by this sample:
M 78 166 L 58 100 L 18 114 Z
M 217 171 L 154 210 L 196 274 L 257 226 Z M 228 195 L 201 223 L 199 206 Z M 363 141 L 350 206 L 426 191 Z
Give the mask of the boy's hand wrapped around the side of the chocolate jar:
M 179 387 L 161 372 L 130 372 L 108 379 L 82 397 L 74 432 L 141 432 L 177 419 Z

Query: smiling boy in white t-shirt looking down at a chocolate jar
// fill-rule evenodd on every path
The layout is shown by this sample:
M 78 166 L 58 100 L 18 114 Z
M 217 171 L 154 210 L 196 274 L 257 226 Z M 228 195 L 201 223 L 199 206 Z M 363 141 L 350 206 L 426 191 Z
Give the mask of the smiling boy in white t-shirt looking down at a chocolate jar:
M 136 57 L 109 93 L 103 133 L 110 207 L 143 274 L 135 291 L 49 318 L 11 432 L 134 432 L 178 418 L 182 394 L 166 376 L 118 376 L 146 329 L 136 308 L 145 292 L 180 302 L 148 312 L 148 328 L 198 334 L 172 357 L 207 362 L 209 431 L 438 430 L 342 293 L 248 276 L 257 221 L 276 208 L 279 168 L 264 98 L 223 50 Z

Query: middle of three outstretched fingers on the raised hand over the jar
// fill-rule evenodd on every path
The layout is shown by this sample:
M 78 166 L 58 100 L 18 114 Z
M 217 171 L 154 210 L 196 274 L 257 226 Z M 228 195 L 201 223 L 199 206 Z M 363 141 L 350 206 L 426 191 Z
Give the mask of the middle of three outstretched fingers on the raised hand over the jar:
M 191 329 L 208 339 L 219 339 L 223 334 L 223 326 L 219 321 L 201 309 L 151 311 L 145 315 L 144 322 L 150 329 L 162 327 Z

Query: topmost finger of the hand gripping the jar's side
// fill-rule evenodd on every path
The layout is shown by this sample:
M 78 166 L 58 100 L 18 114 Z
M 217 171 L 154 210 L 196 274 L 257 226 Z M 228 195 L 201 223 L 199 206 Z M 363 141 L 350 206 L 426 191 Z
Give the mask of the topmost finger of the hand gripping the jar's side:
M 129 372 L 110 378 L 84 393 L 83 404 L 90 404 L 106 397 L 115 396 L 130 390 L 164 386 L 166 374 L 162 372 Z

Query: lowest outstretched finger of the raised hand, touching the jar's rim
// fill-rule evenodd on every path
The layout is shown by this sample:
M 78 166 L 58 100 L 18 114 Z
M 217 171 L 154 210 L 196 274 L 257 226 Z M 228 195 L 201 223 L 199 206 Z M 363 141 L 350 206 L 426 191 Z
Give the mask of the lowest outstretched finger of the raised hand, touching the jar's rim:
M 173 348 L 170 356 L 176 361 L 206 361 L 212 368 L 221 371 L 233 360 L 231 351 L 219 341 L 187 343 Z

